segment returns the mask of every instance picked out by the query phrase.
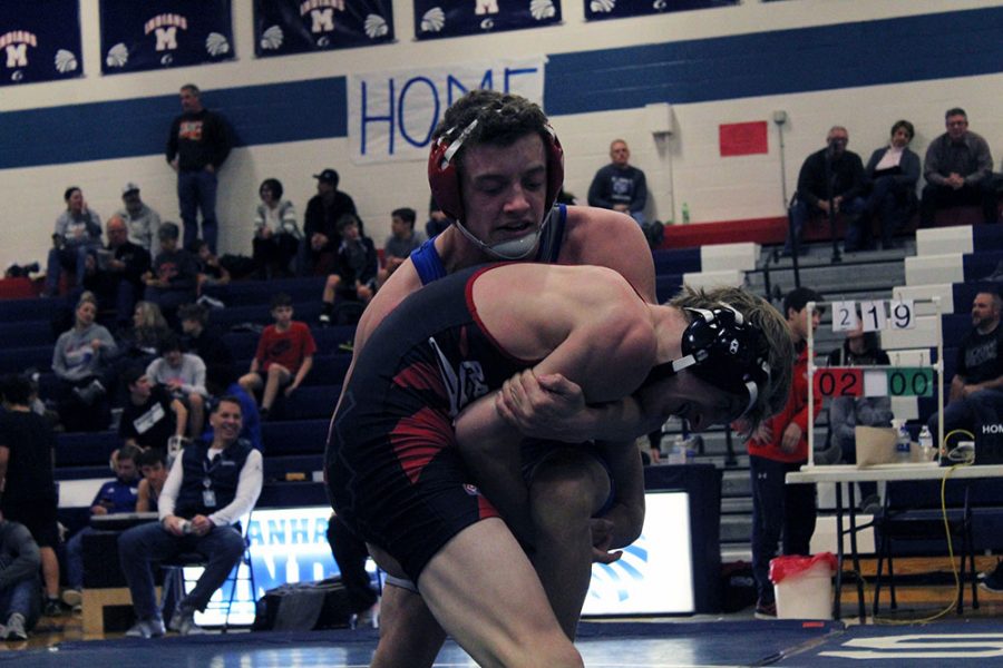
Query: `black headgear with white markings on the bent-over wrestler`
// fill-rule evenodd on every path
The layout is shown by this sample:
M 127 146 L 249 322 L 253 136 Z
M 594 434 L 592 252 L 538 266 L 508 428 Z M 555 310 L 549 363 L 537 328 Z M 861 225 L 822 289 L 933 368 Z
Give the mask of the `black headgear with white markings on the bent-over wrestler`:
M 728 304 L 685 311 L 692 321 L 682 334 L 683 356 L 652 369 L 645 384 L 690 369 L 714 387 L 748 396 L 744 415 L 770 380 L 769 346 L 762 332 Z

